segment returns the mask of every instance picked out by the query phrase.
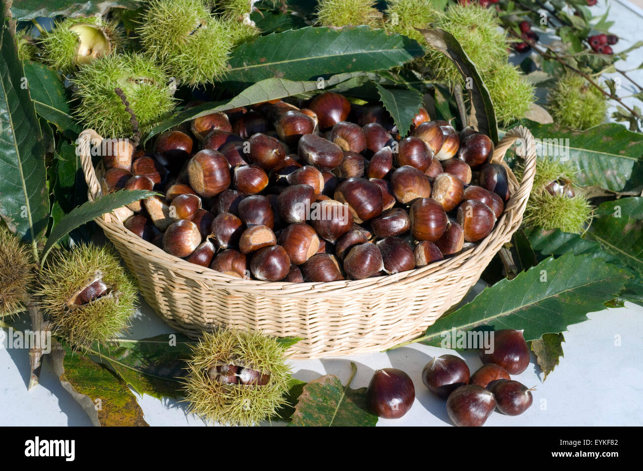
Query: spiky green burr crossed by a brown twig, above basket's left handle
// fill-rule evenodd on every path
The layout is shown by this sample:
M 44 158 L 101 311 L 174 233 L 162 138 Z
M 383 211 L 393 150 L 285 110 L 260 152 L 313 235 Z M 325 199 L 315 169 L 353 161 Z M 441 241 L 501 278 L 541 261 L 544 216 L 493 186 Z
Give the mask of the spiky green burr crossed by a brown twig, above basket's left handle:
M 141 132 L 147 132 L 174 107 L 174 84 L 150 58 L 140 54 L 109 55 L 80 67 L 75 78 L 75 114 L 84 127 L 104 138 L 125 138 L 134 132 L 130 114 L 114 91 L 122 89 Z

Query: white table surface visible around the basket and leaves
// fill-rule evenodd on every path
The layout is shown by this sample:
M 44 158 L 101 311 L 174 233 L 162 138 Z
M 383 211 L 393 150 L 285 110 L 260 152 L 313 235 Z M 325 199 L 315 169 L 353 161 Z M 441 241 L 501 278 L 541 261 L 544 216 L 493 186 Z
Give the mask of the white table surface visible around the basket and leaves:
M 621 37 L 615 49 L 624 49 L 640 39 L 643 10 L 626 0 L 599 2 L 592 10 L 599 13 L 607 6 L 611 7 L 610 19 L 617 24 L 613 31 Z M 639 50 L 618 67 L 630 69 L 642 62 L 643 53 Z M 643 82 L 643 70 L 631 76 Z M 634 90 L 626 80 L 621 83 L 624 91 L 620 94 Z M 631 100 L 628 103 L 637 104 Z M 573 324 L 565 332 L 565 357 L 545 382 L 541 381 L 543 375 L 533 355 L 529 368 L 514 377 L 527 386 L 537 387 L 532 407 L 517 417 L 494 413 L 487 425 L 643 425 L 643 307 L 626 303 L 624 308 L 602 310 L 588 317 L 590 321 Z M 142 339 L 168 332 L 172 329 L 143 304 L 129 338 Z M 616 339 L 620 340 L 620 346 L 616 345 Z M 421 380 L 424 365 L 431 357 L 444 353 L 454 352 L 414 344 L 386 353 L 300 360 L 291 364 L 294 377 L 300 380 L 333 374 L 345 383 L 350 375 L 350 361 L 354 361 L 358 372 L 352 387 L 367 386 L 377 368 L 403 369 L 415 384 L 415 404 L 403 418 L 380 419 L 378 425 L 450 425 L 444 401 L 431 395 Z M 466 352 L 460 356 L 467 361 L 472 373 L 481 365 L 476 353 Z M 28 351 L 0 348 L 0 425 L 91 425 L 80 405 L 62 389 L 48 362 L 42 367 L 41 384 L 30 392 L 26 390 L 28 377 Z M 134 394 L 150 425 L 204 425 L 186 413 L 183 403 Z

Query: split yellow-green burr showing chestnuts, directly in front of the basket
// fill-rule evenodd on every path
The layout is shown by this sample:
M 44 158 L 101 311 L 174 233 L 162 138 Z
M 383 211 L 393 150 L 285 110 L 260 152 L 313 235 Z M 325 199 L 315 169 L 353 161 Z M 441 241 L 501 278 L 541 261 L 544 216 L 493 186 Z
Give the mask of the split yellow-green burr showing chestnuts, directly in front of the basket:
M 257 425 L 285 405 L 284 347 L 261 332 L 204 332 L 185 378 L 190 412 L 221 425 Z

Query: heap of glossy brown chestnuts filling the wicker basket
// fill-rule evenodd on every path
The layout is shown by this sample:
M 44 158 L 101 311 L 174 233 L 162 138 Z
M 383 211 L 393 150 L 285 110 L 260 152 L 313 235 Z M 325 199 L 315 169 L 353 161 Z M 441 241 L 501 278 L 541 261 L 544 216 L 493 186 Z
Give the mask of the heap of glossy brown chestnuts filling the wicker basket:
M 487 136 L 425 109 L 409 136 L 379 105 L 322 93 L 215 112 L 153 148 L 103 156 L 105 193 L 156 190 L 119 217 L 188 262 L 263 281 L 359 280 L 460 253 L 510 197 Z

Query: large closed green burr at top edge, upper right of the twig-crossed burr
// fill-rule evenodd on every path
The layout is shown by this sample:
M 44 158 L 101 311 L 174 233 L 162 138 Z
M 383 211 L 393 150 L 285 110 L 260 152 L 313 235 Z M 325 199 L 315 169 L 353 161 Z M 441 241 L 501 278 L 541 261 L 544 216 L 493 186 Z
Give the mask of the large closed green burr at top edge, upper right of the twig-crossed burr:
M 196 87 L 226 71 L 233 46 L 226 24 L 202 0 L 152 0 L 136 31 L 152 60 L 178 82 Z

